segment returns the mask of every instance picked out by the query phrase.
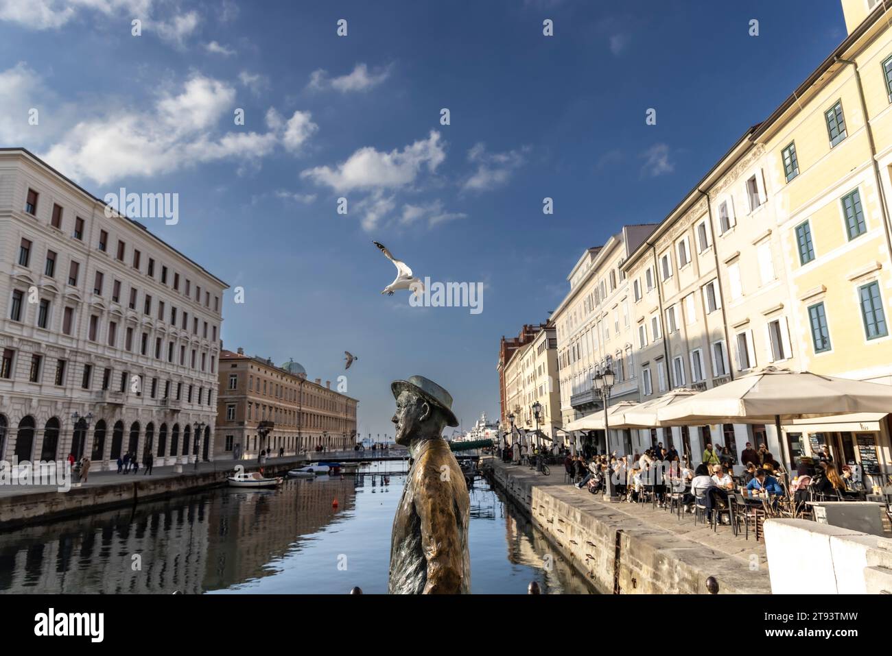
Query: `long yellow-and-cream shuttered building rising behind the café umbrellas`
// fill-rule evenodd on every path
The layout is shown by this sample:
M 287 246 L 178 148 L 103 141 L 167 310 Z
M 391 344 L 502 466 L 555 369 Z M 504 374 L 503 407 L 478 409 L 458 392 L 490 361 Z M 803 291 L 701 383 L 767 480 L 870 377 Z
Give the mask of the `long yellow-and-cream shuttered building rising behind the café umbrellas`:
M 888 5 L 888 6 L 887 6 Z M 892 2 L 844 0 L 848 37 L 747 130 L 628 258 L 641 398 L 765 365 L 892 384 Z M 765 441 L 796 463 L 828 444 L 889 471 L 888 417 L 640 431 L 698 462 Z M 649 433 L 649 434 L 648 434 Z

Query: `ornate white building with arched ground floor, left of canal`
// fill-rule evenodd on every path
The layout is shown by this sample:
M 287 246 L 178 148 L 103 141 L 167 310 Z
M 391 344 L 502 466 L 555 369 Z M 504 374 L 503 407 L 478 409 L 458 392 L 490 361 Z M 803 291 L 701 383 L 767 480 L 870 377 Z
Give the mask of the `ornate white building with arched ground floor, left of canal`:
M 212 457 L 226 289 L 30 152 L 0 149 L 0 458 Z

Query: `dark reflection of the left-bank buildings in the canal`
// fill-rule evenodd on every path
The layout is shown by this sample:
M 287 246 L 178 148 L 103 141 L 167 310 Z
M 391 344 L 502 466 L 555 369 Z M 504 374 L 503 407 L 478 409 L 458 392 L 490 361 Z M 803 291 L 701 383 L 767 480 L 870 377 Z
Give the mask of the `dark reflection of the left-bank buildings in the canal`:
M 227 489 L 26 527 L 0 536 L 0 593 L 225 588 L 274 573 L 269 562 L 350 511 L 355 494 L 350 478 L 289 481 L 275 492 Z

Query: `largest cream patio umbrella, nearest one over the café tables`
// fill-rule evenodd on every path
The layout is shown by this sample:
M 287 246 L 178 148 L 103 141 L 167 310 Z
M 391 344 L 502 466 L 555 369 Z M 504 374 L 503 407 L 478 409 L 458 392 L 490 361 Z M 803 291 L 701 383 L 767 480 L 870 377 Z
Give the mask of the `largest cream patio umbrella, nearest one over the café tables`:
M 892 386 L 766 367 L 657 409 L 664 425 L 781 422 L 849 413 L 888 413 Z M 789 454 L 785 454 L 789 462 Z

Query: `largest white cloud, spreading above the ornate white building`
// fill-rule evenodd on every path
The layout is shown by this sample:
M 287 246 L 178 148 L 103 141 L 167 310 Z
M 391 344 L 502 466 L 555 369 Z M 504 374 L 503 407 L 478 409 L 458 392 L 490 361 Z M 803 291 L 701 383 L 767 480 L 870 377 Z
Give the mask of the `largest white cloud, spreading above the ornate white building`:
M 65 125 L 54 127 L 57 135 L 49 131 L 44 134 L 32 132 L 27 123 L 27 106 L 42 89 L 41 78 L 23 62 L 0 71 L 0 106 L 19 107 L 5 104 L 7 95 L 24 103 L 21 123 L 14 127 L 8 122 L 0 124 L 0 138 L 4 143 L 32 148 L 37 143 L 39 148 L 35 150 L 55 168 L 75 179 L 98 184 L 126 176 L 164 175 L 221 160 L 239 162 L 241 172 L 259 166 L 260 160 L 279 144 L 293 151 L 299 136 L 305 141 L 316 130 L 309 114 L 297 111 L 285 120 L 270 111 L 266 132 L 235 128 L 221 131 L 219 126 L 227 125 L 225 119 L 232 111 L 235 89 L 225 82 L 195 75 L 177 93 L 162 93 L 145 108 L 106 112 L 103 107 L 95 111 L 80 107 L 73 112 L 62 106 L 57 115 L 62 116 Z M 302 133 L 297 134 L 295 126 L 301 127 Z

